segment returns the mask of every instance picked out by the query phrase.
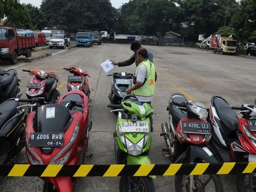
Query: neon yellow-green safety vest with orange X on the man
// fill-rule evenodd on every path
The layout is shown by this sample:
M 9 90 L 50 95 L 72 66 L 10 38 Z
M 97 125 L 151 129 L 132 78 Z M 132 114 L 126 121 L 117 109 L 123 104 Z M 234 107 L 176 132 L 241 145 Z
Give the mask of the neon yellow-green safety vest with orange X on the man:
M 155 74 L 156 74 L 156 69 L 155 65 L 151 63 L 149 60 L 141 62 L 136 71 L 139 69 L 139 67 L 144 64 L 147 67 L 147 80 L 144 85 L 142 85 L 139 89 L 134 90 L 133 94 L 138 95 L 138 96 L 143 96 L 143 97 L 151 97 L 154 95 L 155 92 Z

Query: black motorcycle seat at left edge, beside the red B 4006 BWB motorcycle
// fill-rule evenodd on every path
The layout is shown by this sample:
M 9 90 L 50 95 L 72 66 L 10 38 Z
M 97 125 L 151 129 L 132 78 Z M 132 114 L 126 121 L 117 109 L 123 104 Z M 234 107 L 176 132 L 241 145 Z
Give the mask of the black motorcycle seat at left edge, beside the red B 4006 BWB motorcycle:
M 0 104 L 0 129 L 3 125 L 18 112 L 19 103 L 14 100 L 4 101 Z

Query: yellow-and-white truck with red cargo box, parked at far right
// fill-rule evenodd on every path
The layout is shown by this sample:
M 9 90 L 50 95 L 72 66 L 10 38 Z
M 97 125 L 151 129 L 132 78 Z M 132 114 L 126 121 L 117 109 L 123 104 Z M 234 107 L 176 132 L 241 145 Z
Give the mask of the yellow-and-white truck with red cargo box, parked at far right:
M 222 37 L 220 35 L 215 35 L 212 37 L 211 49 L 213 53 L 220 52 L 220 54 L 225 53 L 236 53 L 237 40 L 232 36 Z

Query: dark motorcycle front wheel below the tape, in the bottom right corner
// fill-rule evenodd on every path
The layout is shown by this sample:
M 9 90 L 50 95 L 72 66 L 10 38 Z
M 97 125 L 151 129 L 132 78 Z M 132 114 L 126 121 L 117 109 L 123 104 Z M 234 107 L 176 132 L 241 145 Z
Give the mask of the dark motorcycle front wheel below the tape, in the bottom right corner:
M 256 173 L 238 174 L 236 177 L 238 192 L 256 191 Z

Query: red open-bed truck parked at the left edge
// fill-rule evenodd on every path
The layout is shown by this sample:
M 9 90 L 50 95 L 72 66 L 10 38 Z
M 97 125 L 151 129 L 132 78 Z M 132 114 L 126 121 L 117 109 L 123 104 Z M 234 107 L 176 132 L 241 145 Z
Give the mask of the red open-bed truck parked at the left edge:
M 31 57 L 35 48 L 35 37 L 22 37 L 17 35 L 15 27 L 0 27 L 0 59 L 9 60 L 12 65 L 17 63 L 20 55 Z

